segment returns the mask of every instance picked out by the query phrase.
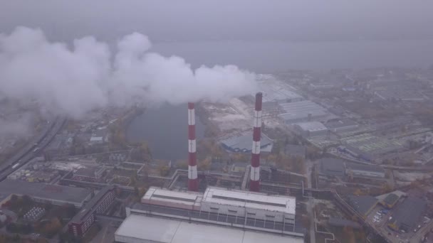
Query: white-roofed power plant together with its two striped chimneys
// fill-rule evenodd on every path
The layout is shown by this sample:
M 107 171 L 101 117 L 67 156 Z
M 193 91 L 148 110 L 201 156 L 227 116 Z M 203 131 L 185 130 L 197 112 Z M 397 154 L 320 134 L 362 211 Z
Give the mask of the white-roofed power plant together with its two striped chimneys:
M 188 103 L 187 190 L 150 187 L 126 207 L 116 242 L 303 242 L 296 198 L 260 193 L 262 94 L 256 94 L 249 190 L 208 186 L 199 192 L 194 103 Z M 202 187 L 202 190 L 204 187 Z

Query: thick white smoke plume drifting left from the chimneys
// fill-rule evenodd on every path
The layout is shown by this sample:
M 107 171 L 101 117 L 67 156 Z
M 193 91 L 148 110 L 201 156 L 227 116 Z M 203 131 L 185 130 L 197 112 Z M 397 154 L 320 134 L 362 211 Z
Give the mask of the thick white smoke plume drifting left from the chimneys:
M 92 109 L 136 102 L 226 101 L 254 92 L 255 77 L 234 65 L 192 70 L 184 59 L 149 52 L 147 36 L 107 43 L 88 36 L 73 46 L 51 43 L 39 29 L 0 34 L 0 97 L 38 102 L 55 114 L 80 118 Z

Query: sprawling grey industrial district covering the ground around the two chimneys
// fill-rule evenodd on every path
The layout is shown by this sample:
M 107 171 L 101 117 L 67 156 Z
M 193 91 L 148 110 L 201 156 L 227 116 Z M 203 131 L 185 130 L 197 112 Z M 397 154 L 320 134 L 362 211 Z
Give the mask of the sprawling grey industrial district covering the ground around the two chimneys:
M 145 107 L 53 117 L 2 164 L 2 230 L 48 242 L 427 242 L 433 131 L 420 107 L 432 74 L 259 75 L 260 92 L 184 106 L 177 161 L 127 140 Z M 378 92 L 407 94 L 409 78 L 424 87 L 410 99 Z M 382 118 L 394 109 L 408 112 Z

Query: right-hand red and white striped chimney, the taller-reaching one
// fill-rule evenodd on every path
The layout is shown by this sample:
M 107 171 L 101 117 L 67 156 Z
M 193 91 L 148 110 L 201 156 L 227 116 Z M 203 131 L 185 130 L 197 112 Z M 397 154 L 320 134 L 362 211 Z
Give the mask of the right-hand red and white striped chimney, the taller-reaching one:
M 251 152 L 251 173 L 249 190 L 258 192 L 260 190 L 260 136 L 261 136 L 261 97 L 256 94 L 256 110 L 254 111 L 253 150 Z

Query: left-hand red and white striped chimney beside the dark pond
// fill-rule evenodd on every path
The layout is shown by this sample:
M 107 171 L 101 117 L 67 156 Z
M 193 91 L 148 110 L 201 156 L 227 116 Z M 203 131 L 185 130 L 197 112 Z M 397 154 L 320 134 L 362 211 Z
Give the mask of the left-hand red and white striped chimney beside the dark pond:
M 188 103 L 188 190 L 199 190 L 197 179 L 197 158 L 195 144 L 195 112 L 194 103 Z

